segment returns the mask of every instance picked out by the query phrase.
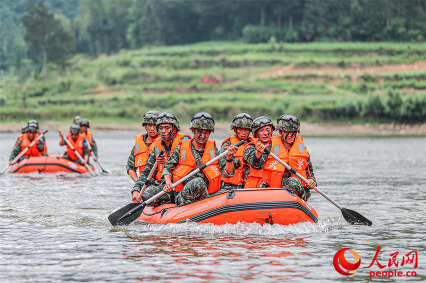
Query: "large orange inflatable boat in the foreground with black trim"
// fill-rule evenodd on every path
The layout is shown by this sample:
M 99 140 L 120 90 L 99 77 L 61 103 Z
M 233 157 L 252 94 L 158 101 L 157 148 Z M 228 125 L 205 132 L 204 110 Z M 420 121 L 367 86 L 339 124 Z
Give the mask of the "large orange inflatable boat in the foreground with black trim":
M 294 224 L 317 222 L 318 214 L 306 201 L 283 188 L 244 188 L 179 205 L 145 206 L 139 224 L 182 223 Z

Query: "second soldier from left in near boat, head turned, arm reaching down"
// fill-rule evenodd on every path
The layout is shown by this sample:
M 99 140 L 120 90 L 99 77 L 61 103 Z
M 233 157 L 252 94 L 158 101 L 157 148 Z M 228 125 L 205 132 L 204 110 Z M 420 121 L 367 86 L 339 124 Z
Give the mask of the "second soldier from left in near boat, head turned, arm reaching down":
M 158 165 L 151 176 L 151 184 L 146 187 L 141 198 L 142 200 L 147 200 L 163 189 L 164 181 L 161 180 L 161 174 L 163 172 L 163 164 L 167 162 L 167 156 L 170 156 L 173 149 L 176 145 L 180 144 L 182 140 L 191 138 L 187 134 L 179 133 L 179 121 L 176 116 L 170 112 L 162 112 L 158 115 L 156 128 L 160 134 L 160 138 L 157 138 L 154 141 L 152 147 L 153 150 L 151 150 L 151 153 L 149 154 L 146 166 L 132 188 L 133 202 L 141 202 L 141 199 L 138 198 L 139 192 L 143 188 L 146 178 L 151 172 L 155 161 L 157 161 Z M 165 154 L 157 156 L 163 148 L 165 150 Z M 174 198 L 171 198 L 170 193 L 165 193 L 153 200 L 151 205 L 158 205 L 162 202 L 174 202 Z

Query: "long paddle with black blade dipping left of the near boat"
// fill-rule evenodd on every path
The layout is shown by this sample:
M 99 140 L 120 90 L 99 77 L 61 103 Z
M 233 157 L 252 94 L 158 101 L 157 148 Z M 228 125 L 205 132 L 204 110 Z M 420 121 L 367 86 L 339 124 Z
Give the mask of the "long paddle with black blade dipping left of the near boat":
M 234 145 L 235 146 L 241 146 L 241 145 L 244 144 L 244 142 L 245 142 L 245 140 L 243 139 L 243 140 L 241 140 L 240 142 L 237 142 Z M 178 185 L 181 182 L 185 181 L 187 178 L 195 175 L 200 170 L 204 169 L 205 167 L 207 167 L 211 163 L 215 162 L 216 160 L 219 160 L 220 158 L 222 158 L 223 156 L 225 156 L 227 154 L 228 154 L 228 150 L 225 150 L 224 152 L 222 152 L 221 154 L 219 154 L 215 158 L 211 159 L 210 161 L 202 164 L 201 166 L 199 166 L 195 170 L 191 171 L 189 174 L 187 174 L 186 176 L 184 176 L 183 178 L 181 178 L 177 182 L 174 182 L 171 186 L 175 187 L 176 185 Z M 118 209 L 117 211 L 111 213 L 108 216 L 108 220 L 114 226 L 115 225 L 128 225 L 128 224 L 130 224 L 131 222 L 133 222 L 134 220 L 136 220 L 140 216 L 140 214 L 142 213 L 142 210 L 143 210 L 143 208 L 145 208 L 146 204 L 148 204 L 152 200 L 156 199 L 157 197 L 160 197 L 164 193 L 166 193 L 166 192 L 164 190 L 162 190 L 159 193 L 157 193 L 156 195 L 152 196 L 151 198 L 149 198 L 149 199 L 147 199 L 147 200 L 145 200 L 143 202 L 132 202 L 132 203 L 129 203 L 126 206 L 124 206 L 124 207 Z

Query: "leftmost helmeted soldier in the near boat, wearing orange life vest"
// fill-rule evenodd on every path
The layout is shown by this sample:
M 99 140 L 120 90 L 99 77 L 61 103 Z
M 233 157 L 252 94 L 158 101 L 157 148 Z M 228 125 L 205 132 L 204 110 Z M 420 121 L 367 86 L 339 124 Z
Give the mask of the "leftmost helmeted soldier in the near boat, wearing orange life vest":
M 158 137 L 158 131 L 156 129 L 156 122 L 157 117 L 160 114 L 160 111 L 156 110 L 150 110 L 146 112 L 143 115 L 142 119 L 142 126 L 145 127 L 146 133 L 145 134 L 138 134 L 135 138 L 135 145 L 130 150 L 129 158 L 127 159 L 126 164 L 126 171 L 127 174 L 130 176 L 130 178 L 136 182 L 138 175 L 137 175 L 137 169 L 139 168 L 140 173 L 142 172 L 143 168 L 145 168 L 145 163 L 142 161 L 141 164 L 135 164 L 136 155 L 144 155 L 143 157 L 138 156 L 138 162 L 140 160 L 146 160 L 148 159 L 150 150 L 148 149 L 152 142 Z M 142 149 L 145 147 L 144 150 Z M 136 152 L 135 152 L 136 150 Z M 143 152 L 143 153 L 139 153 Z

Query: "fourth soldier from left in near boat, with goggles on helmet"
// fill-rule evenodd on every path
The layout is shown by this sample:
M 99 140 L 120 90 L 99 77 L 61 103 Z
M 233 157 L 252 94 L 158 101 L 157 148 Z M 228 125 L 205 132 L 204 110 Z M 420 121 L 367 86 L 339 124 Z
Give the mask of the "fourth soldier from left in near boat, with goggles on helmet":
M 228 149 L 228 147 L 231 144 L 236 144 L 240 140 L 245 139 L 246 141 L 244 143 L 244 146 L 239 147 L 239 150 L 235 154 L 235 158 L 232 161 L 236 170 L 235 175 L 231 178 L 226 178 L 223 176 L 221 188 L 235 189 L 240 183 L 240 173 L 241 173 L 241 166 L 243 165 L 242 158 L 243 158 L 244 147 L 249 142 L 255 140 L 253 136 L 249 136 L 252 122 L 253 122 L 252 117 L 247 113 L 240 113 L 232 119 L 230 129 L 231 130 L 233 129 L 235 134 L 233 136 L 226 138 L 222 142 L 221 152 L 224 152 L 225 150 Z M 223 158 L 226 159 L 225 156 Z

